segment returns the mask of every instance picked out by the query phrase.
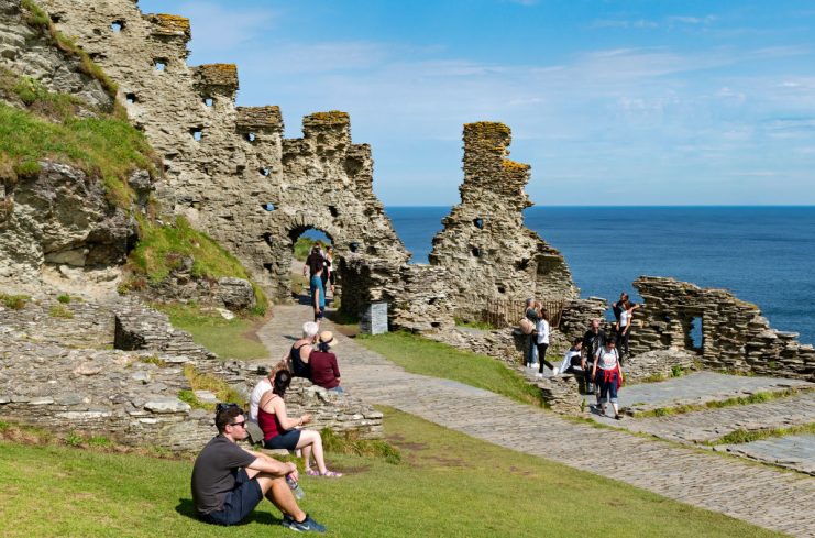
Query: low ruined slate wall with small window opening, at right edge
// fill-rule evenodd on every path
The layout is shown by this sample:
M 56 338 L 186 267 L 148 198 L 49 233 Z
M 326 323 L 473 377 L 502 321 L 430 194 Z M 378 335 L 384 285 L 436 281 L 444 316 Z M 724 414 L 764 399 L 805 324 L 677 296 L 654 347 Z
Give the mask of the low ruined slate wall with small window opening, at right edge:
M 641 276 L 634 286 L 645 303 L 634 316 L 632 355 L 678 349 L 708 369 L 815 381 L 813 347 L 800 343 L 795 332 L 771 328 L 758 306 L 673 278 Z M 698 320 L 701 348 L 691 336 Z

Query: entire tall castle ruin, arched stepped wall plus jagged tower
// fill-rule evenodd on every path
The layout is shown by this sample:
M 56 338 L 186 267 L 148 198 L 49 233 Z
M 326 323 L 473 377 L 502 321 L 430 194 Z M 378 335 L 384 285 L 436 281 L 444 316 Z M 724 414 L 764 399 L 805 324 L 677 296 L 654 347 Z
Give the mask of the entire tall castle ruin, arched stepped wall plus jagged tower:
M 187 19 L 143 14 L 133 0 L 44 6 L 119 83 L 119 99 L 164 160 L 156 194 L 165 210 L 238 255 L 273 299 L 288 300 L 293 243 L 309 228 L 335 246 L 343 308 L 360 312 L 367 301 L 388 300 L 392 322 L 409 330 L 449 327 L 456 304 L 493 295 L 576 294 L 562 256 L 522 226 L 529 167 L 504 158 L 505 125 L 465 128 L 462 204 L 444 219 L 434 267 L 408 266 L 373 193 L 371 147 L 352 143 L 348 114 L 308 116 L 301 139 L 284 139 L 277 107 L 234 106 L 234 65 L 187 65 Z M 476 217 L 485 221 L 477 233 Z

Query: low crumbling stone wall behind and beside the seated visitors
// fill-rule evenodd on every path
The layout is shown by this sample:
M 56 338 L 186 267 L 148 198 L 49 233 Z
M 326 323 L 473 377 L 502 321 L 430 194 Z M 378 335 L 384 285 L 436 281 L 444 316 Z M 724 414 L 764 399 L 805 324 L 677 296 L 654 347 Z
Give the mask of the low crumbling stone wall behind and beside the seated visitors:
M 199 450 L 216 433 L 212 413 L 179 399 L 190 391 L 184 366 L 249 395 L 256 365 L 221 361 L 173 329 L 164 314 L 135 300 L 71 303 L 74 317 L 49 314 L 41 296 L 21 310 L 0 307 L 0 417 L 54 432 L 84 431 L 124 444 Z M 115 349 L 110 349 L 115 347 Z M 202 402 L 212 394 L 199 394 Z M 310 413 L 315 428 L 381 438 L 382 414 L 306 380 L 286 395 L 291 413 Z

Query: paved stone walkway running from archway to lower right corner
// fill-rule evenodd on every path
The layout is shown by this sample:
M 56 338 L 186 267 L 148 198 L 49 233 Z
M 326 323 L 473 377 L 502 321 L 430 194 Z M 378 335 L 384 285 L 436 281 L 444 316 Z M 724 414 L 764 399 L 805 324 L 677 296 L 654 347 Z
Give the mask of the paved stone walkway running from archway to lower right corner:
M 308 319 L 302 306 L 276 307 L 258 336 L 277 358 Z M 324 326 L 331 328 L 330 322 Z M 573 424 L 487 391 L 407 373 L 335 334 L 343 385 L 367 402 L 755 525 L 815 537 L 815 479 Z M 597 450 L 598 439 L 607 450 Z M 609 452 L 621 457 L 609 460 L 604 455 Z

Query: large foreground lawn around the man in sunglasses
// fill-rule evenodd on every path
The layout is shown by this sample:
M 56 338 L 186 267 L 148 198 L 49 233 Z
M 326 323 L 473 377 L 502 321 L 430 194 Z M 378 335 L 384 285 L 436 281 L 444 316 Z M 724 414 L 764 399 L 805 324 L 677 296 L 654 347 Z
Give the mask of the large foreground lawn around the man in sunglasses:
M 304 509 L 332 536 L 779 536 L 411 415 L 385 409 L 385 426 L 401 463 L 329 454 L 346 476 L 301 479 Z M 0 441 L 2 536 L 291 536 L 267 502 L 238 527 L 199 523 L 190 471 L 190 461 Z

